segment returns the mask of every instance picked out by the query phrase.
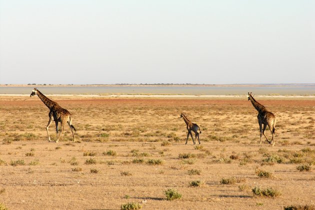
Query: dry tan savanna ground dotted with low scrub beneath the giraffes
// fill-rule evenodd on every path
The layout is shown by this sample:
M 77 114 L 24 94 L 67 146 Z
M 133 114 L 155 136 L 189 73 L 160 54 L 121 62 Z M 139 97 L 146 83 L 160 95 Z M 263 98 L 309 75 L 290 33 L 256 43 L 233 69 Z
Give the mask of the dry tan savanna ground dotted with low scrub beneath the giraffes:
M 76 142 L 68 125 L 58 143 L 47 141 L 48 108 L 37 96 L 0 96 L 2 207 L 283 209 L 315 202 L 314 99 L 256 97 L 277 117 L 273 147 L 265 140 L 258 147 L 257 113 L 246 97 L 51 99 L 72 113 Z M 200 126 L 200 145 L 184 144 L 181 111 Z M 49 131 L 55 139 L 54 123 Z M 181 197 L 167 200 L 167 189 Z

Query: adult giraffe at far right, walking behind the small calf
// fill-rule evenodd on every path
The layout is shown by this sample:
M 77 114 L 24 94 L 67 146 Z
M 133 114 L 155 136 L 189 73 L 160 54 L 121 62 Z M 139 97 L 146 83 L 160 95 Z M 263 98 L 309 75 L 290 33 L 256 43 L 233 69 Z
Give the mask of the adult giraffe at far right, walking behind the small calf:
M 267 111 L 266 107 L 258 103 L 253 96 L 251 95 L 251 92 L 248 92 L 248 100 L 252 103 L 252 105 L 255 107 L 255 109 L 258 111 L 257 119 L 259 123 L 259 130 L 260 130 L 260 143 L 259 146 L 261 146 L 261 135 L 263 134 L 266 140 L 273 146 L 274 145 L 274 127 L 275 127 L 275 116 L 270 111 Z M 262 128 L 263 124 L 263 128 Z M 269 127 L 271 133 L 272 133 L 272 139 L 271 141 L 268 140 L 267 136 L 264 134 L 264 131 L 266 127 Z M 271 129 L 272 128 L 272 129 Z

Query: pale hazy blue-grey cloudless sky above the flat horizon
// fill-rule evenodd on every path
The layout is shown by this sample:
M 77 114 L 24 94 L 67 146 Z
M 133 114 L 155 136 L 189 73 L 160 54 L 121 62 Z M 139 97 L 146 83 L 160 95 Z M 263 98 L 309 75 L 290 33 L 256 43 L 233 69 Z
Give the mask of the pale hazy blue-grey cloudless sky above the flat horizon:
M 313 83 L 314 0 L 0 0 L 0 83 Z

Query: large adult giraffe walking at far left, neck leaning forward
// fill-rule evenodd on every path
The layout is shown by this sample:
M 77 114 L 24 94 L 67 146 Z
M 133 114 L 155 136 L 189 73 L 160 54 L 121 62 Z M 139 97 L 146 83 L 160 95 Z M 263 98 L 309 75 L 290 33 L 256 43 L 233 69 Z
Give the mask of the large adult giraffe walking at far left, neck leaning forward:
M 76 129 L 74 128 L 74 126 L 72 125 L 72 120 L 71 120 L 71 114 L 68 110 L 61 108 L 61 106 L 59 106 L 58 103 L 50 100 L 49 98 L 47 98 L 44 94 L 42 94 L 38 89 L 34 88 L 31 92 L 31 94 L 29 95 L 29 97 L 33 96 L 33 95 L 37 95 L 41 101 L 49 108 L 49 121 L 48 124 L 46 126 L 46 130 L 47 130 L 47 134 L 48 134 L 48 141 L 50 142 L 50 135 L 49 135 L 49 131 L 48 128 L 51 124 L 52 121 L 55 122 L 56 124 L 56 141 L 59 141 L 59 138 L 61 136 L 62 130 L 63 130 L 63 123 L 67 122 L 68 125 L 70 126 L 71 132 L 72 132 L 72 136 L 73 136 L 73 142 L 75 141 L 75 137 L 74 137 L 74 133 L 73 130 L 76 131 Z M 60 134 L 58 136 L 58 122 L 60 122 L 60 126 L 61 126 L 61 131 Z

